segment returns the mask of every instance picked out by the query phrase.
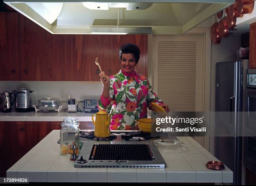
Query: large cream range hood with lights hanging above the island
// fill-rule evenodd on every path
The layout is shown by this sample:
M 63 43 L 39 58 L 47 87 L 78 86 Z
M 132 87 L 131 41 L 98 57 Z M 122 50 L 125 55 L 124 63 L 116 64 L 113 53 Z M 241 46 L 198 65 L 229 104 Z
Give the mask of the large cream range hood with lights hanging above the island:
M 151 30 L 182 34 L 235 0 L 4 0 L 52 34 L 91 34 L 102 30 Z M 108 29 L 106 29 L 108 28 Z M 109 29 L 110 28 L 110 29 Z M 111 29 L 115 28 L 115 29 Z M 138 31 L 139 32 L 139 31 Z M 127 32 L 129 34 L 129 32 Z

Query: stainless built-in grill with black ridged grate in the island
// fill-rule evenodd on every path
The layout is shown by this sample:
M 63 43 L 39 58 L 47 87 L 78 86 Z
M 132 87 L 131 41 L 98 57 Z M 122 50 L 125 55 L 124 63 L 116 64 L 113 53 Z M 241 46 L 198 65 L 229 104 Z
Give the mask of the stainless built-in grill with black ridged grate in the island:
M 131 135 L 139 131 L 131 131 Z M 112 131 L 110 141 L 84 143 L 74 163 L 75 168 L 164 168 L 166 163 L 152 139 L 129 141 L 123 131 Z M 80 138 L 81 139 L 81 138 Z M 102 153 L 104 151 L 104 153 Z M 82 157 L 82 158 L 81 158 Z

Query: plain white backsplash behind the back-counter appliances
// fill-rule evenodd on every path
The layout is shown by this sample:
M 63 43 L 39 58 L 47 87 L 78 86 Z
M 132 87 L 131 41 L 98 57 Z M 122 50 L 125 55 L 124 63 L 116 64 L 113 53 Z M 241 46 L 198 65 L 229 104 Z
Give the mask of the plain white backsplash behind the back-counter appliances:
M 77 101 L 83 101 L 84 98 L 100 98 L 103 89 L 101 82 L 0 81 L 0 92 L 12 92 L 18 84 L 23 83 L 34 91 L 32 104 L 36 104 L 38 99 L 44 97 L 55 97 L 67 102 L 69 94 L 70 98 Z

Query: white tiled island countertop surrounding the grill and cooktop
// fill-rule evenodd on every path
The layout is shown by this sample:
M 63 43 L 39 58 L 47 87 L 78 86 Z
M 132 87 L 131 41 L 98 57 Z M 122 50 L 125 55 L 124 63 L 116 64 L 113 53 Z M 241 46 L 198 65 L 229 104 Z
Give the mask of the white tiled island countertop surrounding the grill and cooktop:
M 30 182 L 168 182 L 232 183 L 233 172 L 207 169 L 207 161 L 216 159 L 191 137 L 177 137 L 185 144 L 179 150 L 159 150 L 166 168 L 74 168 L 70 156 L 61 156 L 59 130 L 51 131 L 33 149 L 16 162 L 7 177 L 28 177 Z M 90 142 L 85 142 L 84 145 Z

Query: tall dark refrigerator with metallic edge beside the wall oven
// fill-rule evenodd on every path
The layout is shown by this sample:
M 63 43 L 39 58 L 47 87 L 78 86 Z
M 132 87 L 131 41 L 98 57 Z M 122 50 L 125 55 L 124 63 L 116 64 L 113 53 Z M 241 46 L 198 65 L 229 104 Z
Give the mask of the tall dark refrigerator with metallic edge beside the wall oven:
M 241 185 L 243 138 L 243 92 L 246 89 L 248 60 L 218 62 L 215 86 L 215 156 L 233 171 L 233 184 Z M 223 119 L 221 114 L 230 116 Z M 223 135 L 222 135 L 223 134 Z M 230 134 L 230 136 L 226 135 Z

